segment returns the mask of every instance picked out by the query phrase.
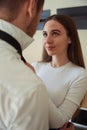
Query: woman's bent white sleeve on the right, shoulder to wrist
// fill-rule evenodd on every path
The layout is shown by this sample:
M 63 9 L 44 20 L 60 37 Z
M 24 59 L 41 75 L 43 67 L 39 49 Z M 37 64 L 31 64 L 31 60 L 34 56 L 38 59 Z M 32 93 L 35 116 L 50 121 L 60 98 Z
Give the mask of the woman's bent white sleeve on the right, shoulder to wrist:
M 87 91 L 87 73 L 78 77 L 71 83 L 70 89 L 60 106 L 56 106 L 51 100 L 49 101 L 50 128 L 59 128 L 67 123 L 77 108 Z

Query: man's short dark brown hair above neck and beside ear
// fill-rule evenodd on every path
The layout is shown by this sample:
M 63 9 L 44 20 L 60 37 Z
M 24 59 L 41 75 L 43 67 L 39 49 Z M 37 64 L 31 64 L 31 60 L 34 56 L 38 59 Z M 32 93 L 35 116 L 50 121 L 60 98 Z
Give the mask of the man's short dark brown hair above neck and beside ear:
M 12 21 L 17 17 L 19 11 L 27 0 L 0 0 L 0 11 L 6 9 L 9 13 L 9 21 Z M 37 12 L 43 6 L 44 0 L 38 0 Z

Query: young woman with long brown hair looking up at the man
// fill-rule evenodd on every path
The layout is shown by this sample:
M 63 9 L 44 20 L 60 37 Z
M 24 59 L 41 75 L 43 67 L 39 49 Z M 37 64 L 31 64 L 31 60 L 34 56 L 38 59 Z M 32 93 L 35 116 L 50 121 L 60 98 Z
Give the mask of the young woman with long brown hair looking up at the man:
M 74 21 L 66 15 L 50 16 L 43 27 L 42 61 L 32 64 L 44 81 L 56 114 L 54 128 L 67 123 L 87 91 L 80 40 Z M 50 121 L 50 128 L 52 121 Z

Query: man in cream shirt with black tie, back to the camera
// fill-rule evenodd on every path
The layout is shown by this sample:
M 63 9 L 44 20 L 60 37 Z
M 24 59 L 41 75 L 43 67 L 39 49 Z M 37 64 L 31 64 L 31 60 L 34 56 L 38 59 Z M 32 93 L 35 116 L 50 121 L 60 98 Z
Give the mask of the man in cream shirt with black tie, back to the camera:
M 0 0 L 0 130 L 49 129 L 45 86 L 22 56 L 33 40 L 43 4 Z

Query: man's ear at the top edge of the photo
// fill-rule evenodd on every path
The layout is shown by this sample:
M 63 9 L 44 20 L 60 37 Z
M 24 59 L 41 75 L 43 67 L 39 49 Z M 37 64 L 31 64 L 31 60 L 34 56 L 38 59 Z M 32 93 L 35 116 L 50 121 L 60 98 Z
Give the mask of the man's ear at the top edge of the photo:
M 30 17 L 32 18 L 37 11 L 37 2 L 38 0 L 30 0 L 29 1 L 29 5 L 28 5 L 28 13 L 30 15 Z

